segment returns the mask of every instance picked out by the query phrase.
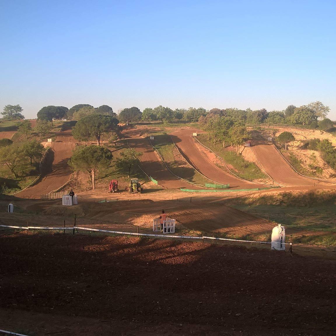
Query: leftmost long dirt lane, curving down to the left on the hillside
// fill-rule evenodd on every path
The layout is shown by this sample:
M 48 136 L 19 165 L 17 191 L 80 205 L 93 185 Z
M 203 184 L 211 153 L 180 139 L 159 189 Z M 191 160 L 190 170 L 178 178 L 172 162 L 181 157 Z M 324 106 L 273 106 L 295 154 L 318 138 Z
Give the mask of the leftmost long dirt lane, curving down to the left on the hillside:
M 72 170 L 68 165 L 68 160 L 72 156 L 76 140 L 71 135 L 71 131 L 57 132 L 55 134 L 55 141 L 49 144 L 54 152 L 52 171 L 43 177 L 37 184 L 16 194 L 18 197 L 40 198 L 41 195 L 56 190 L 70 179 Z

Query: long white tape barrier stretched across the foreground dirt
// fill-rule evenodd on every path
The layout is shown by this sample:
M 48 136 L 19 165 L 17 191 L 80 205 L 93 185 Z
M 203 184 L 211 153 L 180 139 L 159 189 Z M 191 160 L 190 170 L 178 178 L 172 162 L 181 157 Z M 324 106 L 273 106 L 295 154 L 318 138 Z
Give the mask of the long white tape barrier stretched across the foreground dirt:
M 159 238 L 185 238 L 185 239 L 215 239 L 215 240 L 227 240 L 231 242 L 243 242 L 243 243 L 260 243 L 260 244 L 271 244 L 271 242 L 258 242 L 254 240 L 240 240 L 240 239 L 228 239 L 228 238 L 216 238 L 216 237 L 197 237 L 197 236 L 172 236 L 172 235 L 153 235 L 146 233 L 133 233 L 133 232 L 120 232 L 120 231 L 110 231 L 110 230 L 100 230 L 100 229 L 91 229 L 89 227 L 80 227 L 80 226 L 72 226 L 72 227 L 41 227 L 41 226 L 10 226 L 10 225 L 0 225 L 2 227 L 13 227 L 13 228 L 22 228 L 22 229 L 50 229 L 50 230 L 87 230 L 87 231 L 96 231 L 96 232 L 106 232 L 106 233 L 114 233 L 118 235 L 128 235 L 128 236 L 146 236 L 146 237 L 159 237 Z M 292 245 L 291 243 L 285 243 L 285 245 Z

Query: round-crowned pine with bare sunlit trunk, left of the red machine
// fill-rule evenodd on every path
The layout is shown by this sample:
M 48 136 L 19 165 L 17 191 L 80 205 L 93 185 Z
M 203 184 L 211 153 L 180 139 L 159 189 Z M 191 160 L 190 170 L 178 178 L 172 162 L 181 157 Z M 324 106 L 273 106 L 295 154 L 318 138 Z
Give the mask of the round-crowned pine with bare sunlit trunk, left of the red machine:
M 111 151 L 105 147 L 77 146 L 68 164 L 74 170 L 88 172 L 92 182 L 92 190 L 94 190 L 96 188 L 96 169 L 108 168 L 112 158 Z

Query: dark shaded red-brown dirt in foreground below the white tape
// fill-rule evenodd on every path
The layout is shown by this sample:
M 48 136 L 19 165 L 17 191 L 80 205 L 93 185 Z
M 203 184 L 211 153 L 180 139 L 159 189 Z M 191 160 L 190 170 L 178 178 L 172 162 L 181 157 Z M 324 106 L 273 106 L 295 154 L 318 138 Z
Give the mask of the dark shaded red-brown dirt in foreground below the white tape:
M 335 332 L 336 261 L 86 234 L 0 236 L 1 329 L 34 336 Z

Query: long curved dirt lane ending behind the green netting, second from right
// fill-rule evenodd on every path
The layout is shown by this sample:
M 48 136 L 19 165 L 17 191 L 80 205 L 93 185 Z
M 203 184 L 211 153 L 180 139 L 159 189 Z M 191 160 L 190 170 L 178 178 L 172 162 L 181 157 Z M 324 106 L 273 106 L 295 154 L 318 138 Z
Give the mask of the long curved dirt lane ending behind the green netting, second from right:
M 186 133 L 190 133 L 185 135 Z M 230 184 L 233 189 L 253 189 L 264 188 L 265 184 L 250 183 L 241 180 L 229 172 L 217 167 L 203 152 L 200 151 L 192 136 L 192 131 L 178 131 L 174 132 L 172 139 L 176 146 L 179 148 L 183 157 L 199 172 L 208 177 L 209 179 L 221 184 Z

